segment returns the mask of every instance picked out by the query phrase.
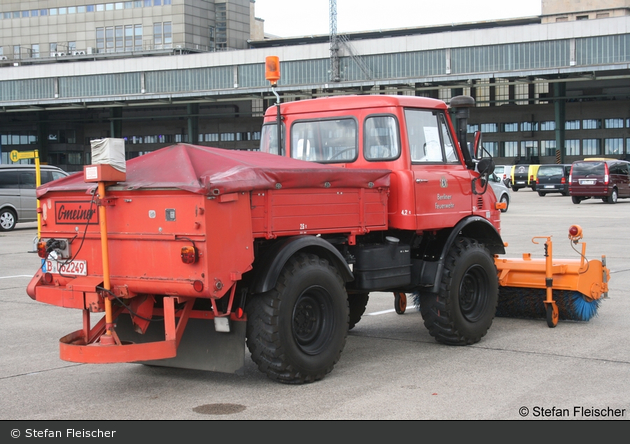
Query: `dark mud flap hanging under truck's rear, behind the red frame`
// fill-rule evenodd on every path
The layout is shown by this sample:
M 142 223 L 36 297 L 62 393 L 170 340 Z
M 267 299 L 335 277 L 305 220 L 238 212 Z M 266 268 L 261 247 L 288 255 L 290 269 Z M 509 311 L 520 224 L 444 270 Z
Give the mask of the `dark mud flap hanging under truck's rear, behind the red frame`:
M 230 332 L 224 333 L 215 330 L 212 319 L 189 319 L 176 357 L 139 363 L 241 375 L 245 365 L 246 324 L 245 321 L 230 321 Z M 123 314 L 116 320 L 116 333 L 122 341 L 163 341 L 164 323 L 152 321 L 145 334 L 138 334 L 131 317 Z

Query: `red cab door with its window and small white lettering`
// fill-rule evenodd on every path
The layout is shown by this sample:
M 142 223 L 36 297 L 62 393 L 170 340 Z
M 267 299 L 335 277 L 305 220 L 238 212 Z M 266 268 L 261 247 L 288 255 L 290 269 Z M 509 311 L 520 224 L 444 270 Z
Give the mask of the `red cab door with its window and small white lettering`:
M 472 211 L 470 172 L 459 158 L 442 111 L 406 109 L 414 176 L 416 229 L 454 226 Z

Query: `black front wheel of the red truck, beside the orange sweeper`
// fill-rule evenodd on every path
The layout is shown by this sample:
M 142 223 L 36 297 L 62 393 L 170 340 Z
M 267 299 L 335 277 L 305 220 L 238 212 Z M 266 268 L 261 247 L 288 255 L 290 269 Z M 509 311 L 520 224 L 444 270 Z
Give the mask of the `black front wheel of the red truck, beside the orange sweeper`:
M 460 237 L 446 257 L 439 293 L 421 295 L 420 313 L 438 342 L 470 345 L 492 325 L 498 294 L 492 254 L 477 241 Z

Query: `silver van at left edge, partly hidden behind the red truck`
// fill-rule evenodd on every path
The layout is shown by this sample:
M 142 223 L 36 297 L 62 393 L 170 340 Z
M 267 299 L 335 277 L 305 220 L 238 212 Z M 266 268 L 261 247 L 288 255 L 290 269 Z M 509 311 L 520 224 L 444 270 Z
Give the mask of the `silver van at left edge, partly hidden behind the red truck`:
M 68 175 L 61 168 L 40 165 L 41 183 Z M 35 165 L 0 165 L 0 231 L 15 228 L 18 222 L 37 220 Z

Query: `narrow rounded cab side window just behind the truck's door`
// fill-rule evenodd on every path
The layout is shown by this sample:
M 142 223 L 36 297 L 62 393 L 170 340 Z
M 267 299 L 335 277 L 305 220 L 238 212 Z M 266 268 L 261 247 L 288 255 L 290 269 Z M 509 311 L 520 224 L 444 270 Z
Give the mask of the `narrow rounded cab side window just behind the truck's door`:
M 392 160 L 400 156 L 398 122 L 393 116 L 365 119 L 363 156 L 366 160 Z

